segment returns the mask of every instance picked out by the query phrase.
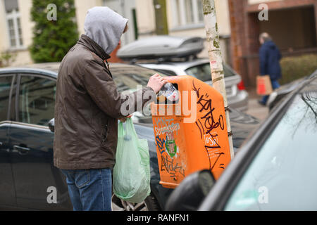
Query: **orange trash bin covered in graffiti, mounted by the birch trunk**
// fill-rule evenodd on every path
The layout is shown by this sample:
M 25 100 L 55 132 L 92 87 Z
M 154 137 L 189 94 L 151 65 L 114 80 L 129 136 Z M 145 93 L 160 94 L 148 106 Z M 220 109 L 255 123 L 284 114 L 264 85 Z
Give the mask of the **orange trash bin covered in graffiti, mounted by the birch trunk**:
M 179 99 L 151 103 L 160 184 L 176 188 L 201 169 L 218 179 L 231 160 L 223 96 L 191 76 L 166 79 L 178 89 Z

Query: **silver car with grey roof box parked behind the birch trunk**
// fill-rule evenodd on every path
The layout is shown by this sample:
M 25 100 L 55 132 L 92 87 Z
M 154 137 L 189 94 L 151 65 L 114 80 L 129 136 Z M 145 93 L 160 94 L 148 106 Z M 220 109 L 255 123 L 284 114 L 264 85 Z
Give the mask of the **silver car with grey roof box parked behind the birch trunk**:
M 212 86 L 209 59 L 197 58 L 202 49 L 201 38 L 157 36 L 123 46 L 117 56 L 166 75 L 190 75 Z M 241 76 L 226 63 L 223 72 L 229 107 L 247 110 L 249 94 Z

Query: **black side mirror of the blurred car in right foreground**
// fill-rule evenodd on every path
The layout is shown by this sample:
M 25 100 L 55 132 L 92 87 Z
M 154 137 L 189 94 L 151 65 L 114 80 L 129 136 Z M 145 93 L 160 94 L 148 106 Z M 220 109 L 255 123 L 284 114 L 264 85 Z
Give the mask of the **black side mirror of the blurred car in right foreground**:
M 171 193 L 166 203 L 166 210 L 198 210 L 215 183 L 216 179 L 208 169 L 190 174 Z

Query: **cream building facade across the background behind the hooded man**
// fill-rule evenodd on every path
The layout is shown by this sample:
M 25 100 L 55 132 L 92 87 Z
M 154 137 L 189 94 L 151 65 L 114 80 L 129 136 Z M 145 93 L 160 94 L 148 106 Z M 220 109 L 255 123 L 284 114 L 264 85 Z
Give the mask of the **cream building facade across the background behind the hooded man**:
M 206 38 L 201 0 L 166 0 L 168 33 L 172 36 Z M 123 34 L 121 44 L 155 34 L 156 18 L 153 0 L 75 0 L 79 34 L 83 34 L 87 10 L 94 6 L 108 6 L 129 19 L 129 30 Z M 0 53 L 8 51 L 15 56 L 11 65 L 32 63 L 28 47 L 32 44 L 30 10 L 32 0 L 0 0 Z M 230 21 L 228 0 L 216 0 L 218 24 L 223 58 L 230 60 Z M 58 12 L 57 12 L 58 20 Z M 208 57 L 207 48 L 200 56 Z M 227 61 L 228 61 L 227 60 Z

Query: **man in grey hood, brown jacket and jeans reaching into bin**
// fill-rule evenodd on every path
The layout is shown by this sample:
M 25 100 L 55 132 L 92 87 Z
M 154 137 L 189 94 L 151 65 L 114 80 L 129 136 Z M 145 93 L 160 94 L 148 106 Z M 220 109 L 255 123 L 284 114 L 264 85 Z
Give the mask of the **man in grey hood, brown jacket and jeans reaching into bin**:
M 142 110 L 166 84 L 163 77 L 154 75 L 144 89 L 118 93 L 106 60 L 127 23 L 108 7 L 91 8 L 85 18 L 85 34 L 58 70 L 54 165 L 66 175 L 73 210 L 111 210 L 118 119 Z M 137 104 L 137 99 L 142 103 Z

